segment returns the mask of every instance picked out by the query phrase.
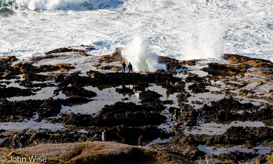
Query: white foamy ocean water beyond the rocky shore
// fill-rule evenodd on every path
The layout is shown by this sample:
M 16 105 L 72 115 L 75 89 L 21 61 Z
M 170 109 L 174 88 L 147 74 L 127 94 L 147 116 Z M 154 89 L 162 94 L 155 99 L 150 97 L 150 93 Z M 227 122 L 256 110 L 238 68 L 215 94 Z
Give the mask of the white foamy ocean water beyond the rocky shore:
M 84 44 L 100 49 L 97 55 L 129 47 L 126 58 L 141 62 L 156 55 L 210 60 L 223 53 L 273 61 L 270 0 L 0 0 L 0 4 L 0 56 L 24 59 Z

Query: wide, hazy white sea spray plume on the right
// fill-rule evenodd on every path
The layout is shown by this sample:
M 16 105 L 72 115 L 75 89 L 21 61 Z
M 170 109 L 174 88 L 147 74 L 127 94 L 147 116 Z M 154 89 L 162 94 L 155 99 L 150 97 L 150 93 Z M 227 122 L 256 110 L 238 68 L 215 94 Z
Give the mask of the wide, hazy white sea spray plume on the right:
M 180 33 L 179 60 L 219 59 L 223 54 L 222 28 L 214 20 L 202 18 L 199 23 L 187 24 L 187 30 Z

